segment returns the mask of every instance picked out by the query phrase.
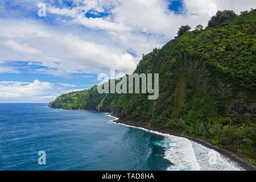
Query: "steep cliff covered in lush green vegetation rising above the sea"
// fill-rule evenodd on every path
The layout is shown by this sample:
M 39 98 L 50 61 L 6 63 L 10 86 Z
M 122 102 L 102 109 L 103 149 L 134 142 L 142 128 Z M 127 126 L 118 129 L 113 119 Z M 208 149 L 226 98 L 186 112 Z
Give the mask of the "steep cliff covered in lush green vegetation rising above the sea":
M 205 30 L 184 32 L 144 55 L 134 73 L 159 73 L 159 98 L 147 94 L 63 94 L 50 107 L 111 111 L 256 153 L 256 10 L 218 12 Z M 100 106 L 100 107 L 99 107 Z

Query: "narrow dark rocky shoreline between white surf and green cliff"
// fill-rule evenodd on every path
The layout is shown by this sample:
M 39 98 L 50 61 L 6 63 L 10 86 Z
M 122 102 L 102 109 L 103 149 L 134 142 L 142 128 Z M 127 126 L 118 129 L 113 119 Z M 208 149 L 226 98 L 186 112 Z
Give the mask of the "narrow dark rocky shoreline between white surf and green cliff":
M 113 115 L 111 113 L 108 113 L 108 114 L 110 114 L 114 118 L 117 118 L 115 115 Z M 166 129 L 156 129 L 156 128 L 150 127 L 146 123 L 142 123 L 142 122 L 136 122 L 135 123 L 135 122 L 129 122 L 129 121 L 122 121 L 119 118 L 118 119 L 113 119 L 110 122 L 121 123 L 121 124 L 125 124 L 127 126 L 135 126 L 135 127 L 140 127 L 142 129 L 146 129 L 146 130 L 157 131 L 157 132 L 162 133 L 162 134 L 169 134 L 169 135 L 174 135 L 176 137 L 187 138 L 189 140 L 192 140 L 193 142 L 199 143 L 199 144 L 201 144 L 201 145 L 203 145 L 207 148 L 210 148 L 210 149 L 213 149 L 213 150 L 217 151 L 218 153 L 223 155 L 225 158 L 228 158 L 232 162 L 237 163 L 238 166 L 245 169 L 246 171 L 256 171 L 256 167 L 253 166 L 253 164 L 250 164 L 250 161 L 247 161 L 245 158 L 242 158 L 238 154 L 235 154 L 234 152 L 231 152 L 229 150 L 226 150 L 225 148 L 217 146 L 216 144 L 213 144 L 213 143 L 211 143 L 207 140 L 197 138 L 197 137 L 191 137 L 191 136 L 184 135 L 184 134 L 175 133 L 174 131 L 170 131 L 170 130 L 166 130 Z

